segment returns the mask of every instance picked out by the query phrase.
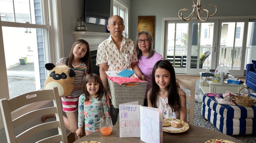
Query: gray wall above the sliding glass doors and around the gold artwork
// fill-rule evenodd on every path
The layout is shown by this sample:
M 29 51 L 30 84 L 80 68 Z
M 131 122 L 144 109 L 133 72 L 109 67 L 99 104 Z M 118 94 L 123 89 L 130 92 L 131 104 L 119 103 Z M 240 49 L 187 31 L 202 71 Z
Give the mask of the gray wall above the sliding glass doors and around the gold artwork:
M 210 15 L 215 12 L 215 8 L 208 6 L 215 5 L 218 8 L 215 16 L 244 16 L 256 15 L 255 0 L 202 0 L 202 9 L 208 9 Z M 162 40 L 162 18 L 178 17 L 181 9 L 187 8 L 187 13 L 192 12 L 193 0 L 131 0 L 131 19 L 129 28 L 131 28 L 131 39 L 135 40 L 137 34 L 138 16 L 156 16 L 155 17 L 155 49 L 161 52 Z M 186 14 L 184 12 L 184 14 Z M 196 14 L 196 13 L 195 13 Z M 195 17 L 195 15 L 194 15 Z M 211 19 L 211 17 L 209 18 Z

